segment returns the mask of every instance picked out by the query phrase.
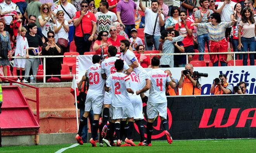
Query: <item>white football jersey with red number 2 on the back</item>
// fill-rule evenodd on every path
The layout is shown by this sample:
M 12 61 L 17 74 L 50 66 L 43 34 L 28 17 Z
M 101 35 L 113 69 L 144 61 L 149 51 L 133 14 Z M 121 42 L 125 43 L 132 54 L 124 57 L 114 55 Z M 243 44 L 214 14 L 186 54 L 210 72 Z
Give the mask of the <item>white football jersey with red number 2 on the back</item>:
M 131 88 L 130 77 L 121 72 L 112 73 L 106 81 L 106 86 L 111 87 L 112 106 L 125 107 L 131 104 L 127 88 Z

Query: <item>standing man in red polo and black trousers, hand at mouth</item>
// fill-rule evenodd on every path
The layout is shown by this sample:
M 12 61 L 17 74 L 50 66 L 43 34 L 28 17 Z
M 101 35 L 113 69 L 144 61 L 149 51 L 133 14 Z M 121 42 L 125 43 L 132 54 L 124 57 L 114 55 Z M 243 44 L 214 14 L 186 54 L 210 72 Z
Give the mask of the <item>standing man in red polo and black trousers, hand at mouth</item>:
M 85 0 L 81 2 L 81 10 L 77 11 L 75 14 L 74 26 L 76 27 L 74 37 L 76 51 L 79 52 L 80 55 L 83 55 L 84 52 L 90 51 L 92 40 L 96 32 L 96 17 L 92 12 L 88 11 L 88 2 Z M 90 35 L 88 41 L 84 40 L 83 34 Z

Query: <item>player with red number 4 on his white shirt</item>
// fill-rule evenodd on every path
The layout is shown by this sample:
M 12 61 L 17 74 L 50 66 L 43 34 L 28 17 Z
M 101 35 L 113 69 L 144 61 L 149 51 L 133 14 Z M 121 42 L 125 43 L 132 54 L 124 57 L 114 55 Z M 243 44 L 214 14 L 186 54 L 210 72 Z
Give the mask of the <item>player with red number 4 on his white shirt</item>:
M 158 57 L 153 57 L 151 60 L 152 70 L 147 73 L 146 86 L 136 91 L 136 94 L 149 90 L 149 101 L 147 103 L 147 141 L 144 144 L 151 146 L 151 136 L 153 131 L 154 118 L 158 115 L 161 118 L 161 123 L 164 127 L 164 134 L 166 135 L 169 144 L 172 143 L 172 138 L 169 133 L 169 124 L 167 119 L 167 99 L 165 95 L 165 82 L 168 82 L 172 88 L 176 86 L 171 77 L 159 69 L 160 60 Z

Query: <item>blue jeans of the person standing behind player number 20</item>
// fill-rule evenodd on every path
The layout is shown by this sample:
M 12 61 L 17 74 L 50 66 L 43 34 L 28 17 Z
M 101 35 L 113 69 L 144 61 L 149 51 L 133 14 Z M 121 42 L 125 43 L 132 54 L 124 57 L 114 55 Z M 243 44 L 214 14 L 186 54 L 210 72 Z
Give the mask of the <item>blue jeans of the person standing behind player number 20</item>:
M 85 113 L 85 109 L 80 108 L 80 118 L 82 118 L 84 113 Z M 91 125 L 91 130 L 92 130 L 93 111 L 90 112 L 89 120 L 90 120 L 90 125 Z M 96 137 L 96 140 L 97 139 L 98 139 L 98 136 Z M 88 142 L 88 122 L 87 122 L 87 119 L 85 121 L 85 126 L 83 127 L 83 131 L 82 131 L 82 140 L 83 140 L 84 143 Z

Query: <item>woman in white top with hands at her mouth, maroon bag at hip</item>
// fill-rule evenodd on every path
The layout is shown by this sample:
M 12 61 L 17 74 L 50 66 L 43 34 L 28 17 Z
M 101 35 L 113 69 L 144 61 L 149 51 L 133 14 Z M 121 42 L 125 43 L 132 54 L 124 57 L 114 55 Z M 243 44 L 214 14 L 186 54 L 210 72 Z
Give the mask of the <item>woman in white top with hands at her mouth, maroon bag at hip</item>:
M 68 43 L 69 24 L 64 19 L 64 12 L 62 10 L 57 12 L 56 18 L 56 24 L 54 24 L 55 39 L 57 39 L 56 41 L 61 45 L 62 52 L 64 54 L 64 52 L 67 52 L 67 47 L 62 45 L 59 39 L 65 39 Z

